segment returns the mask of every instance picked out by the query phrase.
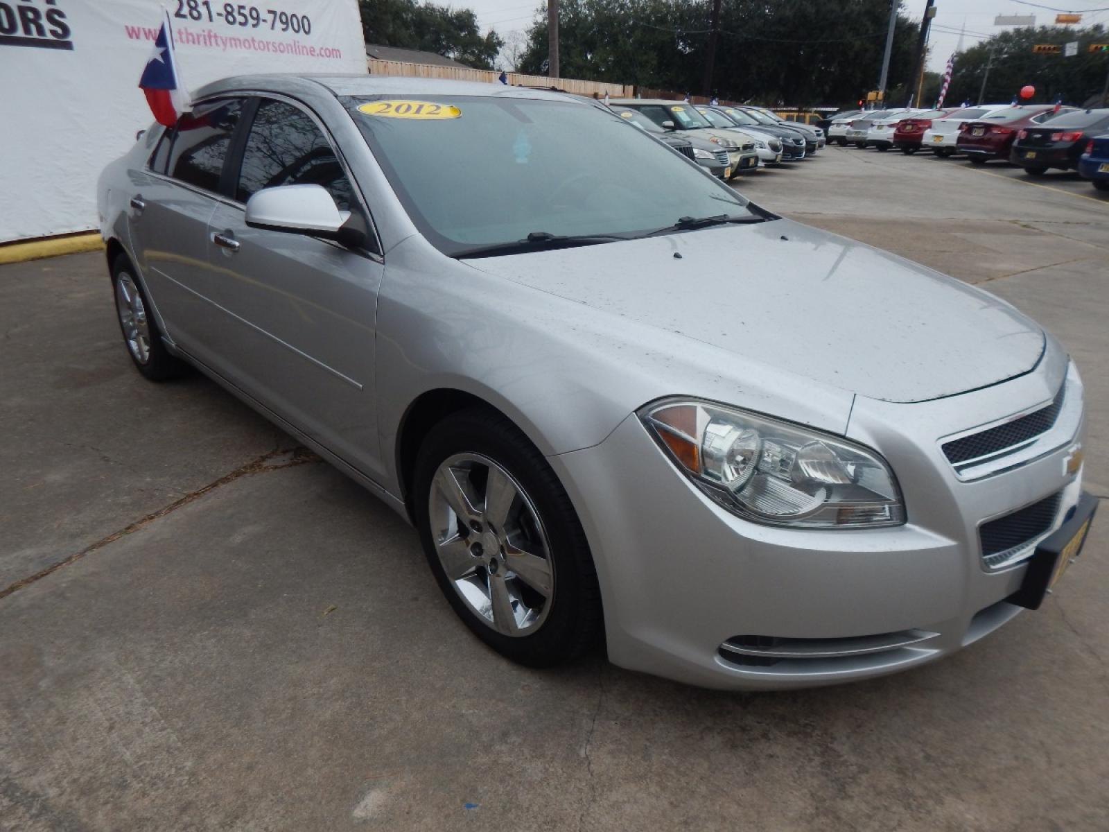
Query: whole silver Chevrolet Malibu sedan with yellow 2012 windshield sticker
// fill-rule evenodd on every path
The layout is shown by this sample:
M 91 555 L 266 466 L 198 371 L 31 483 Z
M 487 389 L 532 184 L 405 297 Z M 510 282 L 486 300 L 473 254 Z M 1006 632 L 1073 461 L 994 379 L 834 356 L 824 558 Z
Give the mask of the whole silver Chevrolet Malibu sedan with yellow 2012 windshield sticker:
M 917 667 L 1038 607 L 1091 521 L 1059 342 L 591 103 L 226 79 L 98 204 L 139 373 L 199 368 L 380 497 L 525 664 Z

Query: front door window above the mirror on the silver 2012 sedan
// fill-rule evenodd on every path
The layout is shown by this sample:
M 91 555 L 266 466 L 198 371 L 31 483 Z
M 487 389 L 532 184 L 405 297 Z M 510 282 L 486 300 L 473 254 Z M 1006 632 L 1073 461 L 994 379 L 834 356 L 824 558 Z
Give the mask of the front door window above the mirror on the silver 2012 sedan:
M 258 105 L 243 151 L 235 199 L 246 202 L 263 187 L 323 185 L 340 211 L 349 211 L 350 181 L 316 122 L 284 101 Z

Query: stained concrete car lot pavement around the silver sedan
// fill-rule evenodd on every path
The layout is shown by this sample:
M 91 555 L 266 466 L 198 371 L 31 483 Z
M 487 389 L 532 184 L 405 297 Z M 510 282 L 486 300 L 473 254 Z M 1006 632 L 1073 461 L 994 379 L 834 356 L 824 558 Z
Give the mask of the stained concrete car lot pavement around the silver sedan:
M 1064 342 L 1109 495 L 1106 195 L 856 149 L 793 168 L 735 185 Z M 467 633 L 384 505 L 206 381 L 142 381 L 101 255 L 0 267 L 0 828 L 1103 828 L 1109 516 L 1042 610 L 909 673 L 535 672 Z

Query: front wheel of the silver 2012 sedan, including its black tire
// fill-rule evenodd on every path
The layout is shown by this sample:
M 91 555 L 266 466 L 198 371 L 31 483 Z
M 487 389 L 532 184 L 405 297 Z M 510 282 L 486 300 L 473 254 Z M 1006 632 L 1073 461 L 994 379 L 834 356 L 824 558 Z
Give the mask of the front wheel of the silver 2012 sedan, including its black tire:
M 513 491 L 503 511 L 486 511 L 495 476 L 499 494 Z M 475 636 L 532 668 L 569 661 L 598 641 L 601 597 L 586 534 L 554 471 L 516 425 L 480 407 L 449 416 L 424 439 L 414 480 L 414 514 L 428 565 Z M 527 578 L 517 571 L 525 566 Z M 505 590 L 497 592 L 499 606 L 495 586 Z

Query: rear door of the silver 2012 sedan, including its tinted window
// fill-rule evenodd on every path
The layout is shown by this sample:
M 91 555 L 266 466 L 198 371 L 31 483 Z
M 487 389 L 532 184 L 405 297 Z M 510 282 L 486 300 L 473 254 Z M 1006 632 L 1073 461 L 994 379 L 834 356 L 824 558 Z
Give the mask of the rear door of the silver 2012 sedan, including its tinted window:
M 131 195 L 131 242 L 174 342 L 200 357 L 211 326 L 207 225 L 243 99 L 205 101 L 165 131 Z

